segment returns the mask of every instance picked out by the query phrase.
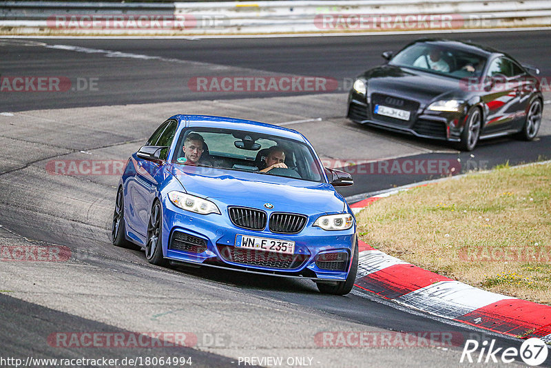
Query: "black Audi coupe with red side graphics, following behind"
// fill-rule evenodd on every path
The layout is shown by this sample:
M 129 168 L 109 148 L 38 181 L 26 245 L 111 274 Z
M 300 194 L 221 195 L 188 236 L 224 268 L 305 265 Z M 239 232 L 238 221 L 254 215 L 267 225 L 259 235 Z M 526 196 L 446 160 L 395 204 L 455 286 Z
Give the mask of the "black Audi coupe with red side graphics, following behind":
M 470 151 L 479 139 L 516 134 L 532 140 L 543 111 L 539 70 L 481 45 L 420 39 L 384 65 L 357 76 L 352 121 L 453 142 Z

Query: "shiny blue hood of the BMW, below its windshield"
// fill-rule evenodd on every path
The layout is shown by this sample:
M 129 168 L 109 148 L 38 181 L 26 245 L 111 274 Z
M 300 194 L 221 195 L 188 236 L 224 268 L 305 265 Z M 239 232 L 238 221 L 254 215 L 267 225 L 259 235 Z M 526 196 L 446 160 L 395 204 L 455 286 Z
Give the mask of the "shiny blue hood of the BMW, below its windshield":
M 328 183 L 190 165 L 171 165 L 169 170 L 189 194 L 227 205 L 263 208 L 271 203 L 273 211 L 306 215 L 342 212 L 345 207 L 342 196 Z

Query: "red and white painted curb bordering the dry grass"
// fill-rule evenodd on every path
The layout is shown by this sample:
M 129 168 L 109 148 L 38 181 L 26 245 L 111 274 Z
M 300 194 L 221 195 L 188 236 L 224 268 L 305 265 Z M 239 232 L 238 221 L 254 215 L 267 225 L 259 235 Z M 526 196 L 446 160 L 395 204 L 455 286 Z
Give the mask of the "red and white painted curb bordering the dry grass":
M 427 185 L 427 184 L 424 184 Z M 356 214 L 402 190 L 351 205 Z M 400 305 L 510 336 L 551 343 L 551 306 L 486 292 L 384 254 L 360 241 L 355 286 Z

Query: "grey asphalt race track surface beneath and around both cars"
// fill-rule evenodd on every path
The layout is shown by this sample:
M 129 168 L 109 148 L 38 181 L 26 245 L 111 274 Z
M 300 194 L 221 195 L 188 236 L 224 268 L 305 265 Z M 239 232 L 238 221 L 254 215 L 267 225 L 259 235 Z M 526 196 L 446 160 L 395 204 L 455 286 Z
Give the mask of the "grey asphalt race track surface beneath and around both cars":
M 551 31 L 538 31 L 449 38 L 492 45 L 548 76 L 550 36 Z M 312 367 L 463 367 L 469 365 L 459 363 L 467 339 L 520 347 L 519 340 L 450 325 L 360 293 L 324 296 L 305 280 L 154 267 L 143 252 L 110 243 L 118 182 L 113 170 L 62 175 L 55 169 L 67 160 L 110 165 L 125 160 L 177 113 L 236 116 L 299 130 L 327 163 L 352 164 L 347 169 L 356 185 L 342 190 L 345 196 L 439 176 L 369 174 L 366 161 L 460 163 L 455 174 L 551 158 L 548 111 L 537 141 L 484 141 L 469 154 L 345 119 L 346 83 L 380 63 L 382 51 L 397 50 L 412 38 L 0 38 L 1 76 L 63 76 L 76 89 L 0 92 L 0 245 L 54 247 L 67 254 L 60 262 L 0 261 L 0 356 L 191 356 L 191 367 L 239 367 L 244 358 L 268 356 L 301 358 Z M 339 84 L 324 93 L 195 92 L 188 81 L 198 76 L 325 76 Z M 87 88 L 78 90 L 77 79 L 81 87 L 87 81 Z M 550 96 L 545 94 L 545 100 Z M 335 348 L 316 339 L 323 331 L 377 336 L 425 331 L 454 339 L 453 346 L 441 348 Z M 186 333 L 191 343 L 91 348 L 52 340 L 72 332 Z M 546 363 L 551 365 L 551 357 Z

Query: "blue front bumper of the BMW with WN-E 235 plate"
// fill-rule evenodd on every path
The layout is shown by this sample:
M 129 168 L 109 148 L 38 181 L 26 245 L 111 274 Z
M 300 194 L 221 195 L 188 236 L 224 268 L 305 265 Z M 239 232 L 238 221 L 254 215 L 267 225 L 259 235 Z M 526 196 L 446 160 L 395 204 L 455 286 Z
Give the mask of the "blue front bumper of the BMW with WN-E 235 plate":
M 169 260 L 313 280 L 345 280 L 349 273 L 356 243 L 355 225 L 348 230 L 326 231 L 313 227 L 315 218 L 309 217 L 298 234 L 274 234 L 269 229 L 254 231 L 236 227 L 224 209 L 221 215 L 200 215 L 179 209 L 170 201 L 165 201 L 163 207 L 163 254 Z M 235 247 L 238 234 L 294 241 L 295 254 Z M 342 271 L 318 267 L 316 256 L 333 252 L 346 254 Z

